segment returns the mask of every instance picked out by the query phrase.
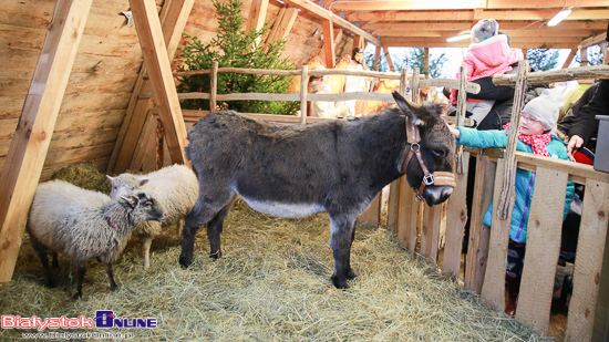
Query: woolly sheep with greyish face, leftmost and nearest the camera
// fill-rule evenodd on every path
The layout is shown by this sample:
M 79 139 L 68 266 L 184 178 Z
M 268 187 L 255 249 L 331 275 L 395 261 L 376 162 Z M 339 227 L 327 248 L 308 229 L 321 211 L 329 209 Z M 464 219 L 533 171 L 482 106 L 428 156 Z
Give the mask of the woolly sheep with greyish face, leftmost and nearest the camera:
M 63 180 L 42 183 L 32 201 L 27 229 L 38 252 L 48 287 L 54 287 L 48 251 L 60 252 L 78 269 L 73 298 L 82 297 L 86 261 L 106 265 L 110 288 L 116 289 L 112 263 L 121 256 L 132 231 L 146 220 L 163 220 L 161 206 L 149 191 L 133 191 L 116 199 Z M 55 266 L 55 262 L 53 262 Z

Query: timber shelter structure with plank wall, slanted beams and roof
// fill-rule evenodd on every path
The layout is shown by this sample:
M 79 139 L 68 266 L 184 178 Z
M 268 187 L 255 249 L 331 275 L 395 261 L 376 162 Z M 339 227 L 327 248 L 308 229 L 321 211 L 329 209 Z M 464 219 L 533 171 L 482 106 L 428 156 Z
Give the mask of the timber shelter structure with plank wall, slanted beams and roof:
M 590 44 L 606 51 L 609 22 L 609 1 L 600 0 L 244 2 L 248 28 L 271 22 L 266 41 L 286 39 L 297 68 L 316 55 L 333 66 L 367 43 L 376 58 L 389 46 L 465 48 L 468 41 L 446 39 L 483 18 L 497 19 L 515 48 L 571 49 L 568 65 Z M 565 21 L 547 27 L 571 7 Z M 53 172 L 79 162 L 106 173 L 155 168 L 146 146 L 156 132 L 171 157 L 165 163 L 185 162 L 176 50 L 182 33 L 208 41 L 217 27 L 208 0 L 0 2 L 1 282 L 12 277 L 35 187 Z

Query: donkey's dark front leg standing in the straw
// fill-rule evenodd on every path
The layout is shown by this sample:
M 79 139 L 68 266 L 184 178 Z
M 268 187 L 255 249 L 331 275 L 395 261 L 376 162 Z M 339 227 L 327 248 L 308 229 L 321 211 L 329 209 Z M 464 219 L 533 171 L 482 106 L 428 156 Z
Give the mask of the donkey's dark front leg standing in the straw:
M 354 273 L 350 271 L 350 255 L 351 242 L 353 238 L 353 230 L 355 229 L 355 215 L 330 214 L 330 248 L 332 248 L 332 255 L 334 257 L 334 272 L 332 274 L 332 282 L 337 289 L 348 289 L 347 277 L 353 277 Z

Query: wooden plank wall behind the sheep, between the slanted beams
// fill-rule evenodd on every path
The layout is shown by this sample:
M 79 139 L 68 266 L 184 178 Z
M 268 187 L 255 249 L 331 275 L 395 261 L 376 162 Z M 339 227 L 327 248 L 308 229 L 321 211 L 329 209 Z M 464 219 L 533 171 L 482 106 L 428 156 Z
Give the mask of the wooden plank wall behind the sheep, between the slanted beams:
M 0 169 L 55 3 L 0 2 Z M 127 28 L 120 14 L 127 10 L 126 1 L 93 1 L 41 179 L 76 162 L 105 168 L 142 65 L 135 27 Z

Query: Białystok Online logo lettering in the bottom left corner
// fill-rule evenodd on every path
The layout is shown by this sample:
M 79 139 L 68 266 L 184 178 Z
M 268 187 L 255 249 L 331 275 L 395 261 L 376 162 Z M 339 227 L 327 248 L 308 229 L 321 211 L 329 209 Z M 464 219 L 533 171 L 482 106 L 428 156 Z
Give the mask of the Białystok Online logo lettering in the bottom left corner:
M 19 315 L 2 315 L 1 327 L 2 329 L 37 329 L 43 331 L 44 329 L 82 329 L 82 328 L 156 328 L 155 318 L 145 319 L 122 319 L 117 318 L 112 310 L 97 310 L 95 311 L 95 318 L 86 318 L 81 315 L 80 318 L 66 318 L 62 315 L 60 318 L 40 319 L 35 315 L 31 318 L 22 318 Z

